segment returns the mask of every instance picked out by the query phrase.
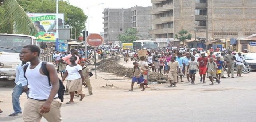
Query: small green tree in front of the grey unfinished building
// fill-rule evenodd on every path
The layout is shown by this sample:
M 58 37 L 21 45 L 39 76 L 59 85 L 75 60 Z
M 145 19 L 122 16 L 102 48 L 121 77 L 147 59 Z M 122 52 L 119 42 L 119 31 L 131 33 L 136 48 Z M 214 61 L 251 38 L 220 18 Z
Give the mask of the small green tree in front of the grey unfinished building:
M 119 34 L 119 41 L 122 43 L 132 43 L 137 39 L 137 29 L 129 28 L 125 30 L 125 33 Z

